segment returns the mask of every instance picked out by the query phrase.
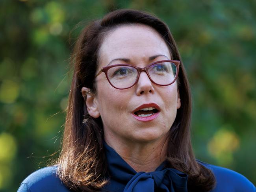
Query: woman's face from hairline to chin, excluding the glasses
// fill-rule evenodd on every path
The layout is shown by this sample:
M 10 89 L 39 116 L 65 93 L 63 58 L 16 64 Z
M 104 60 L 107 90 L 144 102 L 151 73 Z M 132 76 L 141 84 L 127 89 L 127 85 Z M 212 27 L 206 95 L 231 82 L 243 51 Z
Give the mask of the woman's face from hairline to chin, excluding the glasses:
M 121 26 L 104 39 L 99 51 L 97 72 L 107 65 L 127 63 L 145 67 L 167 59 L 172 59 L 169 49 L 154 29 L 144 25 Z M 112 87 L 106 75 L 101 73 L 96 78 L 96 87 L 93 109 L 97 113 L 88 111 L 95 118 L 101 116 L 107 142 L 165 140 L 180 108 L 176 81 L 169 86 L 155 85 L 145 72 L 141 72 L 133 87 L 119 90 Z M 134 113 L 145 107 L 154 107 L 158 112 L 154 110 L 155 114 L 147 118 L 136 114 L 148 114 L 148 111 Z

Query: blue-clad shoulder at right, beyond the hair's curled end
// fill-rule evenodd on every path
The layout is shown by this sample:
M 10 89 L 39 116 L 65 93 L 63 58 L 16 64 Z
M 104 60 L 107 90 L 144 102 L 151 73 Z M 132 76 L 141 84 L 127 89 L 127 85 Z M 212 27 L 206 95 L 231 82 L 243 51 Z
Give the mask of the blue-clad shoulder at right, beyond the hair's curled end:
M 245 176 L 227 168 L 208 164 L 199 160 L 197 160 L 197 162 L 210 169 L 215 175 L 216 187 L 213 192 L 256 192 L 255 186 Z

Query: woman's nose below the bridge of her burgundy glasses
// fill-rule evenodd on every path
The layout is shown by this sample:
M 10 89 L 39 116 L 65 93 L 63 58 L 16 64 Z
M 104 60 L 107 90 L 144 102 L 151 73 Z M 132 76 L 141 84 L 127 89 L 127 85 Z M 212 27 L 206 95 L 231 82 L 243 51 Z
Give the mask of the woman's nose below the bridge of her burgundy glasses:
M 139 75 L 139 79 L 136 84 L 137 96 L 140 96 L 142 94 L 154 93 L 155 91 L 152 82 L 148 78 L 147 73 L 144 71 L 142 71 Z

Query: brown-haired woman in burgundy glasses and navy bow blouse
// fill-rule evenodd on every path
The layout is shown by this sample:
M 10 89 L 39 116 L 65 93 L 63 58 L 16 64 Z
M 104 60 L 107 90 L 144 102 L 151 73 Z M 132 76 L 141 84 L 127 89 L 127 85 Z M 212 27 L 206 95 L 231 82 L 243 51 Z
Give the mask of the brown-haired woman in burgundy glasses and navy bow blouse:
M 191 96 L 169 28 L 121 9 L 84 28 L 55 166 L 23 191 L 248 191 L 243 175 L 195 159 Z

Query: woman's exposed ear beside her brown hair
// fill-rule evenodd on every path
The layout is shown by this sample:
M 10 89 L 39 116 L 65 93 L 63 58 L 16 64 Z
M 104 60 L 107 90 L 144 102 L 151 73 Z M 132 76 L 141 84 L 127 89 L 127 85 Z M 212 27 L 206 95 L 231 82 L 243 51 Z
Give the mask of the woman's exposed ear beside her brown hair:
M 95 94 L 90 92 L 90 89 L 87 87 L 82 87 L 82 95 L 86 102 L 86 108 L 90 116 L 98 118 L 100 112 L 98 111 L 98 102 L 95 98 Z

